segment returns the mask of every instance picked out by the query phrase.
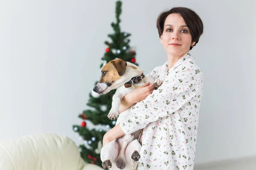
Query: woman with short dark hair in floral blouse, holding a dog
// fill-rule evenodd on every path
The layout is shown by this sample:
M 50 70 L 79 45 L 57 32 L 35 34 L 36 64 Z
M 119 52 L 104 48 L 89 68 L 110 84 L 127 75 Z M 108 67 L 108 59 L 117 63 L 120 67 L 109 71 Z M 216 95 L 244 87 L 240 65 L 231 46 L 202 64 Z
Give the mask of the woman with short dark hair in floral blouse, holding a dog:
M 191 9 L 176 7 L 159 15 L 157 29 L 168 61 L 147 76 L 163 84 L 157 90 L 146 84 L 124 97 L 120 112 L 137 104 L 105 134 L 103 145 L 143 129 L 138 170 L 192 170 L 203 74 L 189 51 L 198 43 L 203 23 Z

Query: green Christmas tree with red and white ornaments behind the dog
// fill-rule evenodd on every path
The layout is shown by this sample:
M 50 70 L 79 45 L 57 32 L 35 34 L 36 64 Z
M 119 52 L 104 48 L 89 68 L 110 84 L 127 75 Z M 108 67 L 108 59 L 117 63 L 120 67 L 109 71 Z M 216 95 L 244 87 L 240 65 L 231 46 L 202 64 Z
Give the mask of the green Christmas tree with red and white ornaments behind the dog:
M 120 29 L 121 6 L 122 2 L 117 1 L 116 22 L 111 23 L 114 33 L 108 34 L 108 37 L 112 42 L 105 41 L 105 54 L 102 57 L 100 68 L 111 60 L 117 58 L 138 65 L 135 60 L 136 52 L 131 50 L 131 47 L 129 46 L 130 40 L 128 37 L 130 37 L 131 34 L 122 32 Z M 94 85 L 96 84 L 97 82 L 95 82 Z M 91 91 L 89 94 L 89 101 L 87 102 L 87 106 L 91 109 L 84 110 L 79 114 L 79 118 L 82 119 L 81 125 L 73 125 L 73 130 L 76 133 L 79 133 L 79 136 L 84 139 L 84 144 L 79 146 L 81 157 L 84 161 L 98 166 L 101 166 L 102 164 L 102 161 L 100 160 L 100 150 L 102 148 L 103 136 L 107 131 L 102 129 L 97 130 L 95 128 L 89 130 L 85 120 L 92 122 L 94 125 L 105 125 L 107 129 L 114 127 L 116 121 L 110 120 L 107 117 L 111 110 L 112 96 L 114 93 L 115 90 L 112 90 L 108 94 L 99 95 L 94 91 Z

